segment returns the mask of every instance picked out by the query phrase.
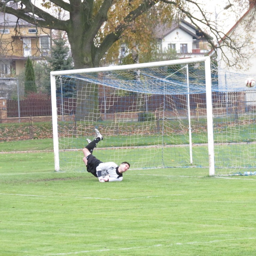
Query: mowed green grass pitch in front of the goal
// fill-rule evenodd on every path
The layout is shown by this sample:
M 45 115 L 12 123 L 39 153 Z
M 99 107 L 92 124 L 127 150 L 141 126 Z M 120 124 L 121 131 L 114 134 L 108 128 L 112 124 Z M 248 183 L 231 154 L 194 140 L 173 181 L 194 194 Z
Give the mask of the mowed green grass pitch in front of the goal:
M 51 144 L 11 143 L 1 151 Z M 255 255 L 256 176 L 208 173 L 130 169 L 100 183 L 54 172 L 53 152 L 0 154 L 0 255 Z

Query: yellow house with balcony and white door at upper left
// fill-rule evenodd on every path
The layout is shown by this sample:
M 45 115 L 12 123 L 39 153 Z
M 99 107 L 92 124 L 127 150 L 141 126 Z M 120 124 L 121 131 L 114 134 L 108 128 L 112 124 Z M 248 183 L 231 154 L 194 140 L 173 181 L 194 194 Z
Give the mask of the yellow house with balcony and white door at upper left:
M 25 68 L 28 56 L 39 61 L 50 54 L 51 30 L 32 25 L 12 14 L 0 12 L 0 37 L 1 77 L 18 75 Z

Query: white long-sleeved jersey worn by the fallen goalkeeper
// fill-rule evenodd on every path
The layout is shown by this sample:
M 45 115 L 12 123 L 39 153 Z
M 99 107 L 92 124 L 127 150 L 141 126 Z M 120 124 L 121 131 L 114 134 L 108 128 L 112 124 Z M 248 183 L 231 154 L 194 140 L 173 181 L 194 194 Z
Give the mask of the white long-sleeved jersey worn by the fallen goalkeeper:
M 96 167 L 96 171 L 101 171 L 101 175 L 104 178 L 109 175 L 108 181 L 122 181 L 123 174 L 118 172 L 118 165 L 114 162 L 100 163 Z

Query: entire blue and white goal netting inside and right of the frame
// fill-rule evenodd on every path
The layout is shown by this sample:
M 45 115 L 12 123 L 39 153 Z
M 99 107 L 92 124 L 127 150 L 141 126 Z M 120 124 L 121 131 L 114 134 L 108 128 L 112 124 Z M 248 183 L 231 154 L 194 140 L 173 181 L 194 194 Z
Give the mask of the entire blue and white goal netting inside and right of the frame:
M 256 167 L 256 92 L 245 78 L 212 70 L 217 173 Z M 204 62 L 56 77 L 60 168 L 85 169 L 75 149 L 94 128 L 104 136 L 94 151 L 104 162 L 208 167 L 205 83 Z

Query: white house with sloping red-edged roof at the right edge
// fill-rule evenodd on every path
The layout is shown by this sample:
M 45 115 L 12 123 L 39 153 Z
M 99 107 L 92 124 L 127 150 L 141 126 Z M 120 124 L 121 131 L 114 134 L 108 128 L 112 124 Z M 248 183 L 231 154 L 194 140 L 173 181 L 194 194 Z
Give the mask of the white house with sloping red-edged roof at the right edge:
M 226 33 L 235 42 L 236 47 L 241 47 L 240 52 L 244 58 L 241 58 L 234 50 L 224 46 L 223 41 L 219 41 L 224 54 L 218 51 L 218 85 L 223 91 L 244 88 L 246 104 L 256 106 L 256 88 L 245 86 L 247 78 L 256 79 L 256 0 L 249 2 L 248 11 Z M 216 53 L 211 50 L 209 55 L 216 56 Z M 228 65 L 227 60 L 233 66 Z

